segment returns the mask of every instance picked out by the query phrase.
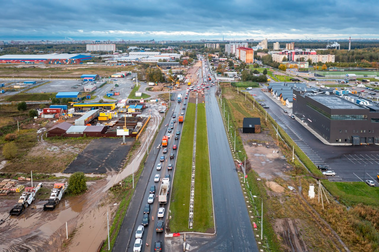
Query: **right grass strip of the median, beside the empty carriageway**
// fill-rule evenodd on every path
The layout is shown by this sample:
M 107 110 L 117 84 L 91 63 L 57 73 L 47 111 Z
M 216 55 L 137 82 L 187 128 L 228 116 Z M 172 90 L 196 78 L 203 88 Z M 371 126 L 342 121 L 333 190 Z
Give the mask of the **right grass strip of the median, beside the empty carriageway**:
M 213 233 L 213 207 L 208 152 L 207 119 L 204 104 L 197 106 L 194 231 Z

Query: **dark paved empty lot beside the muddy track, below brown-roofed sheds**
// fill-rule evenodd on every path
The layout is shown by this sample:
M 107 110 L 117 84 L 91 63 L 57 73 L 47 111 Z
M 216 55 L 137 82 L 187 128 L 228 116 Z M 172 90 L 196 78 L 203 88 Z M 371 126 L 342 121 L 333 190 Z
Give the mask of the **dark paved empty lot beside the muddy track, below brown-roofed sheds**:
M 126 145 L 121 145 L 122 138 L 100 138 L 94 139 L 81 152 L 78 157 L 70 163 L 63 173 L 106 173 L 110 170 L 119 170 L 122 160 L 128 154 L 135 138 L 126 138 Z M 107 151 L 104 151 L 106 149 Z

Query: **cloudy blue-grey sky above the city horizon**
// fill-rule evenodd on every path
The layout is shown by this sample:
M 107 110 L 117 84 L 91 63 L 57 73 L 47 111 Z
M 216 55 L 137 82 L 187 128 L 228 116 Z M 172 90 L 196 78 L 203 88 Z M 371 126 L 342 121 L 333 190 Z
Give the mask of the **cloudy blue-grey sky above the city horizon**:
M 7 0 L 0 40 L 379 38 L 374 0 Z

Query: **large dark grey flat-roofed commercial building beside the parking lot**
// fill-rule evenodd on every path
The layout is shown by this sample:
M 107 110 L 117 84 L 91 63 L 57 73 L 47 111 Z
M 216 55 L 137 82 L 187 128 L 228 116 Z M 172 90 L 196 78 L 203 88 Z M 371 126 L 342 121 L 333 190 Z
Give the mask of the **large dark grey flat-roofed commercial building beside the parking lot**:
M 293 90 L 293 114 L 329 143 L 379 143 L 379 106 L 351 93 Z

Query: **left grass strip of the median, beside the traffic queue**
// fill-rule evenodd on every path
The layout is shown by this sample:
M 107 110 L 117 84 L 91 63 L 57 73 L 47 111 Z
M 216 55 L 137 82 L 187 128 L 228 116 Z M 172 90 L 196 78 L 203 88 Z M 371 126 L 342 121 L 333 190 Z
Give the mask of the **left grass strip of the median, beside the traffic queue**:
M 188 103 L 180 140 L 174 180 L 172 184 L 169 229 L 174 232 L 188 232 L 189 196 L 191 193 L 192 149 L 195 121 L 195 104 Z

